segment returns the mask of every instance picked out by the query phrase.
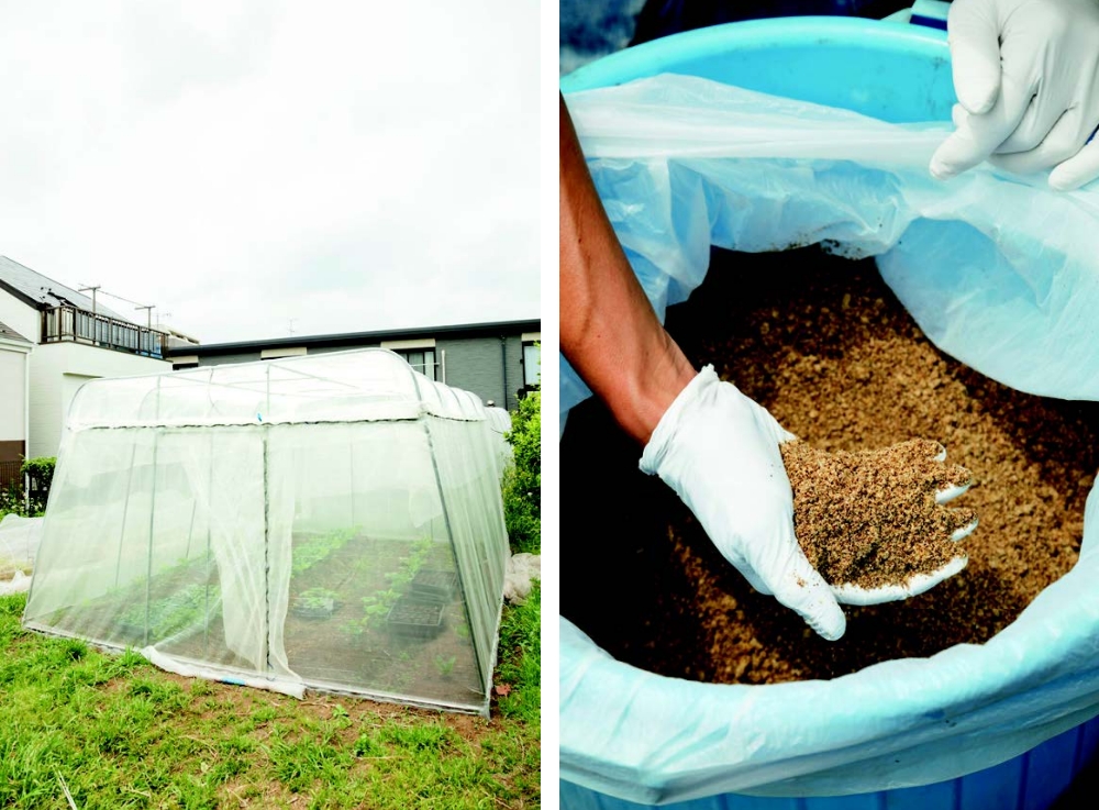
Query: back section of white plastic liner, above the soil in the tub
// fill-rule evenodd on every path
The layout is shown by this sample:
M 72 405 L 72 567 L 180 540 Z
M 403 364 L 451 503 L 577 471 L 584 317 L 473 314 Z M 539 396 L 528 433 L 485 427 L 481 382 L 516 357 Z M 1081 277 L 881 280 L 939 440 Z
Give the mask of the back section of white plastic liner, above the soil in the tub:
M 710 245 L 815 243 L 876 256 L 943 351 L 1013 388 L 1099 398 L 1099 189 L 928 163 L 948 125 L 889 124 L 687 76 L 567 97 L 615 233 L 650 300 L 686 300 Z M 745 159 L 752 158 L 752 159 Z M 588 389 L 562 358 L 564 417 Z

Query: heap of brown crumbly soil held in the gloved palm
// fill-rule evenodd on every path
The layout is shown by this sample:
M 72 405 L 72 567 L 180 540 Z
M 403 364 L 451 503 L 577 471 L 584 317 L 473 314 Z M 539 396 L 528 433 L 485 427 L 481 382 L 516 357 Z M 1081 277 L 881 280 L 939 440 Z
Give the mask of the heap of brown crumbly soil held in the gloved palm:
M 964 491 L 973 477 L 943 464 L 937 442 L 856 453 L 787 442 L 780 450 L 793 489 L 795 533 L 829 585 L 904 586 L 965 556 L 955 537 L 977 515 L 936 497 Z

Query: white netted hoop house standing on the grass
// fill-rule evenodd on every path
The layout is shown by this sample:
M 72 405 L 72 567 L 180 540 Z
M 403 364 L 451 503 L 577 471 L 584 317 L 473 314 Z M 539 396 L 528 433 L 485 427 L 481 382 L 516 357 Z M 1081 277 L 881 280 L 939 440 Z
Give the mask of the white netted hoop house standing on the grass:
M 88 382 L 23 624 L 487 714 L 508 555 L 488 425 L 384 349 Z

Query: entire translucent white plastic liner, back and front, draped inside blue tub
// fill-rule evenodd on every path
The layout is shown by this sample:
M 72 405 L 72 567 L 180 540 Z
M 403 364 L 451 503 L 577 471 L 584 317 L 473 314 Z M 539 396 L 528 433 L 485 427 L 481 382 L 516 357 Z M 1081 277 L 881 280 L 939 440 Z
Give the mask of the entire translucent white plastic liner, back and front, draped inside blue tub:
M 566 97 L 659 317 L 711 244 L 875 256 L 943 351 L 1030 393 L 1099 399 L 1099 189 L 928 163 L 948 126 L 889 124 L 706 79 Z M 745 284 L 752 282 L 751 278 Z M 560 428 L 588 390 L 562 358 Z M 640 802 L 830 796 L 952 779 L 1099 714 L 1095 493 L 1076 567 L 981 646 L 831 681 L 707 685 L 621 664 L 560 620 L 560 777 Z M 842 642 L 841 642 L 842 643 Z

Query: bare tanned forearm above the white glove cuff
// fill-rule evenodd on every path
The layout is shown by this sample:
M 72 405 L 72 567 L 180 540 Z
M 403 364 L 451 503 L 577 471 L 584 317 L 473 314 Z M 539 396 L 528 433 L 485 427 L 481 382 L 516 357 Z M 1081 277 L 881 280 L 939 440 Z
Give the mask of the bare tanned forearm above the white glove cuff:
M 614 235 L 560 100 L 560 349 L 642 444 L 695 369 Z

